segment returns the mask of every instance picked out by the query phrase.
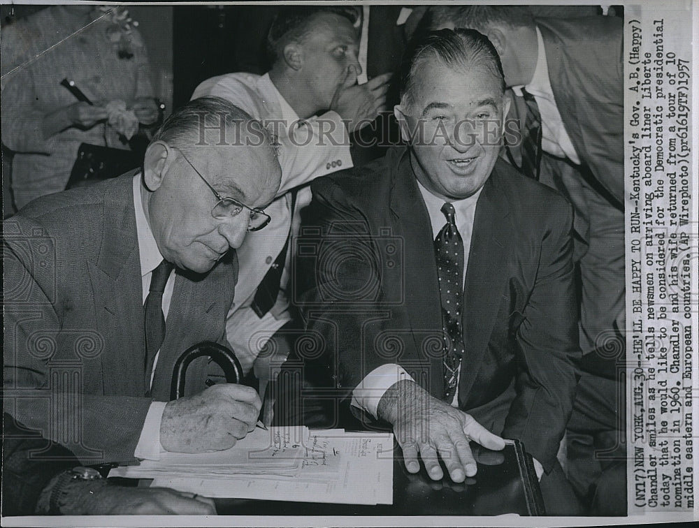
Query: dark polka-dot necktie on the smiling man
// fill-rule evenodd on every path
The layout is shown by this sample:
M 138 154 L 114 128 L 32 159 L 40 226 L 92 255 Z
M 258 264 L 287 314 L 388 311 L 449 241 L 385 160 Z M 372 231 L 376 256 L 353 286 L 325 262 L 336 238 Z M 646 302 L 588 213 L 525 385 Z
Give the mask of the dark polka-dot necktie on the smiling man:
M 442 205 L 447 223 L 435 238 L 435 256 L 442 300 L 442 326 L 445 338 L 445 401 L 452 402 L 463 357 L 461 306 L 463 298 L 463 241 L 454 221 L 454 206 Z

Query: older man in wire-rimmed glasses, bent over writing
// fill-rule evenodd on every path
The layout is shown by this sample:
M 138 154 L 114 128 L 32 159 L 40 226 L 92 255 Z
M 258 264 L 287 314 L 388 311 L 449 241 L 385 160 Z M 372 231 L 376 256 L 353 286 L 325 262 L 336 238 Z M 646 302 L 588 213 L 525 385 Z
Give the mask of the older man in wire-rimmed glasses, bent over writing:
M 262 228 L 280 168 L 258 122 L 221 98 L 177 110 L 143 170 L 45 196 L 5 221 L 5 411 L 87 464 L 230 448 L 257 423 L 251 388 L 173 365 L 225 343 L 235 249 Z

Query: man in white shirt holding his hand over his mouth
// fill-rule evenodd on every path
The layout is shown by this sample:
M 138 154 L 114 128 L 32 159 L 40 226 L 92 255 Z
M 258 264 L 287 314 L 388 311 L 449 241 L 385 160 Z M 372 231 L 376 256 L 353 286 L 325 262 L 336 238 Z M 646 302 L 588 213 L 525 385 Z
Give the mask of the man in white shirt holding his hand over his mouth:
M 291 321 L 287 249 L 298 231 L 298 212 L 310 203 L 308 184 L 352 167 L 349 133 L 371 122 L 385 101 L 387 75 L 356 85 L 356 16 L 348 6 L 278 8 L 267 38 L 271 70 L 219 75 L 192 95 L 231 101 L 266 124 L 279 142 L 282 184 L 268 207 L 272 221 L 238 249 L 240 285 L 226 323 L 246 373 L 267 339 Z M 288 326 L 279 332 L 280 355 L 297 334 Z M 270 377 L 269 359 L 263 355 L 254 364 L 261 383 Z

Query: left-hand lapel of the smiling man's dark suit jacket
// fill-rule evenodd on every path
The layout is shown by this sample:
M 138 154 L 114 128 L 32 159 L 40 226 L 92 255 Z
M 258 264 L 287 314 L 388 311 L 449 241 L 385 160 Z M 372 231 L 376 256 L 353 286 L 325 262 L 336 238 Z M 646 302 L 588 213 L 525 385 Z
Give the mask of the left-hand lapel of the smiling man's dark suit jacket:
M 397 154 L 398 149 L 396 149 Z M 418 357 L 430 360 L 429 374 L 431 393 L 443 390 L 442 360 L 429 355 L 427 344 L 431 336 L 442 339 L 442 307 L 434 254 L 434 240 L 427 207 L 417 187 L 415 174 L 410 167 L 410 155 L 403 151 L 394 167 L 391 188 L 391 213 L 398 219 L 399 232 L 405 243 L 405 310 L 410 319 L 410 328 Z

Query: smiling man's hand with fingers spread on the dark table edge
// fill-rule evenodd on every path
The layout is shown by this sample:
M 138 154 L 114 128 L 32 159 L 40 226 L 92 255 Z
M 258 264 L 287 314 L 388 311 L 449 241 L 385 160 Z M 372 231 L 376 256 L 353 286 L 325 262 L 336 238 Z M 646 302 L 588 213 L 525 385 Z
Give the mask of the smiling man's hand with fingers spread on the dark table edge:
M 503 439 L 473 416 L 436 399 L 414 381 L 394 383 L 382 396 L 377 414 L 393 425 L 405 468 L 417 473 L 421 459 L 435 481 L 444 476 L 439 458 L 454 482 L 476 474 L 476 461 L 468 445 L 471 440 L 491 450 L 505 447 Z

